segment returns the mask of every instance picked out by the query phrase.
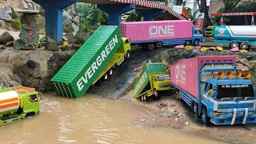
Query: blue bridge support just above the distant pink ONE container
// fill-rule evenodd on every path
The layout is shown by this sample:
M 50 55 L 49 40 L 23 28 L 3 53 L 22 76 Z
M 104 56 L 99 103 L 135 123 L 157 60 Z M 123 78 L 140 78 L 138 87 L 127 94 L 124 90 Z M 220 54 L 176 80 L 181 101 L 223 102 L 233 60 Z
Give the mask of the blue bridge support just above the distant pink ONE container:
M 166 13 L 166 10 L 139 9 L 136 13 L 143 17 L 143 21 L 154 21 L 154 17 Z

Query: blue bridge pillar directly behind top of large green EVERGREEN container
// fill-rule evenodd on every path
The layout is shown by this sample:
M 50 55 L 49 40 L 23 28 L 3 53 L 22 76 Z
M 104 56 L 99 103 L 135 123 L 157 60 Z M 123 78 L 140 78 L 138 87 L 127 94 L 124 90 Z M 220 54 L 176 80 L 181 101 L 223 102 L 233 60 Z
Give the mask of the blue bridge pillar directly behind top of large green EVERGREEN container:
M 122 22 L 122 14 L 135 9 L 135 5 L 130 4 L 102 4 L 97 7 L 109 14 L 110 26 L 119 26 Z

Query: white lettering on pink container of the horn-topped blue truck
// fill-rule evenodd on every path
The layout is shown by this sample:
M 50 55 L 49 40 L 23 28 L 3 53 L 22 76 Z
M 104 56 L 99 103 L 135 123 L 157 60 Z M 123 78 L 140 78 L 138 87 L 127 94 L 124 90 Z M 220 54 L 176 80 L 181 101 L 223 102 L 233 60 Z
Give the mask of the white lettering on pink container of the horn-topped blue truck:
M 186 65 L 175 66 L 176 82 L 186 86 Z

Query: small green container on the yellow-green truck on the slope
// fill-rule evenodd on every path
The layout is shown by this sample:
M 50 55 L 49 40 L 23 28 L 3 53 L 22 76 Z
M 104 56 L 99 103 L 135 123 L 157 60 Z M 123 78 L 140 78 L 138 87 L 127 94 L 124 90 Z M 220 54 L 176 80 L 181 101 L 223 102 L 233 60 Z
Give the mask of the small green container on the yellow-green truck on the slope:
M 150 90 L 150 74 L 161 72 L 165 72 L 165 66 L 162 62 L 146 63 L 134 84 L 134 98 L 138 98 L 139 94 Z

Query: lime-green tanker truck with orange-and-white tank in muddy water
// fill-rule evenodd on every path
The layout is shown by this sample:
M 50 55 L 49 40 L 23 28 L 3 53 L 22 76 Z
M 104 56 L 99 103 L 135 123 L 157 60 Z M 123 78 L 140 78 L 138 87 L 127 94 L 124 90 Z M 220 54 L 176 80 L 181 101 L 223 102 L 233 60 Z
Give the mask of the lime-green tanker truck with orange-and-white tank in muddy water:
M 0 126 L 39 114 L 42 94 L 25 86 L 0 90 Z

